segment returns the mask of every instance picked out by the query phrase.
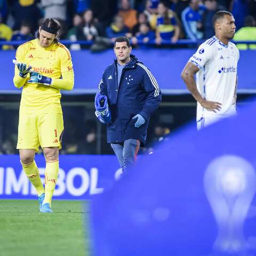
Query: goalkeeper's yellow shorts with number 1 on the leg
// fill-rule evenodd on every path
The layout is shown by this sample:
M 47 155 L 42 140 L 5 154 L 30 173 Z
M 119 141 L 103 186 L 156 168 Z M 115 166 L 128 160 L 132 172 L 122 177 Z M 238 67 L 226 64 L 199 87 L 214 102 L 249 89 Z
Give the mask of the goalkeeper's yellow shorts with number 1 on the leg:
M 61 149 L 63 131 L 62 114 L 20 114 L 17 149 Z

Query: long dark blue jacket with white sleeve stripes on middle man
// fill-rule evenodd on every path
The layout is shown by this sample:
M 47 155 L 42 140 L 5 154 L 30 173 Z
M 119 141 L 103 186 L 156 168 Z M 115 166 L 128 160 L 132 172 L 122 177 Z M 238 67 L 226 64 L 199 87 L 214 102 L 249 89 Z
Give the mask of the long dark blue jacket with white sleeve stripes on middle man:
M 145 145 L 149 118 L 158 108 L 162 94 L 155 77 L 134 55 L 117 81 L 117 61 L 106 68 L 99 83 L 100 93 L 108 97 L 112 122 L 107 125 L 108 143 L 123 142 L 127 139 L 140 140 Z M 139 128 L 134 127 L 140 114 L 146 119 Z

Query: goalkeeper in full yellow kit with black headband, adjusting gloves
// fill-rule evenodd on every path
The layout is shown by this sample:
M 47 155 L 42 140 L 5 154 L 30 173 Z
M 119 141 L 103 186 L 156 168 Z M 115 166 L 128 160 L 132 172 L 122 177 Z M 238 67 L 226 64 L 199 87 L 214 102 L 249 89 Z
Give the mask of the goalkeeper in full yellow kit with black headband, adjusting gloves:
M 64 130 L 60 90 L 72 90 L 74 72 L 68 49 L 58 42 L 60 23 L 46 19 L 37 39 L 18 47 L 14 85 L 22 89 L 18 145 L 20 161 L 37 190 L 40 212 L 52 212 L 51 199 L 59 171 L 59 149 Z M 43 148 L 45 187 L 34 157 Z

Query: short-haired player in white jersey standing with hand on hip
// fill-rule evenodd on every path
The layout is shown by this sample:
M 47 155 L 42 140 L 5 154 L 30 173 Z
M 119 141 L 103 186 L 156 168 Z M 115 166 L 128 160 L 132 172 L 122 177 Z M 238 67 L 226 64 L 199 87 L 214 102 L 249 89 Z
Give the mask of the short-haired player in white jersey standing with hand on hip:
M 235 19 L 230 12 L 219 11 L 213 16 L 213 26 L 215 36 L 198 47 L 181 73 L 197 101 L 198 130 L 236 114 L 239 51 L 229 42 L 235 35 Z

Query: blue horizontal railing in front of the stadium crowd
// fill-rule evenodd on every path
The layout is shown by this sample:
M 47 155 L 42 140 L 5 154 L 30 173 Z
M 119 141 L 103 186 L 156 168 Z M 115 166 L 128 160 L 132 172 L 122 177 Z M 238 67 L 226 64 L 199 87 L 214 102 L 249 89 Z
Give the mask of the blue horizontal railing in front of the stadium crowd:
M 23 43 L 26 43 L 27 41 L 0 41 L 1 45 L 21 45 Z M 161 45 L 165 46 L 179 46 L 179 45 L 199 45 L 205 42 L 205 40 L 201 41 L 193 41 L 190 39 L 181 39 L 177 43 L 173 44 L 170 41 L 163 40 Z M 232 41 L 235 44 L 256 44 L 256 41 Z M 65 45 L 71 45 L 71 44 L 81 44 L 85 46 L 91 46 L 93 44 L 93 41 L 70 41 L 70 40 L 60 40 L 60 43 Z M 155 41 L 149 41 L 148 43 L 143 43 L 142 41 L 138 41 L 138 45 L 148 45 L 148 46 L 156 46 Z

